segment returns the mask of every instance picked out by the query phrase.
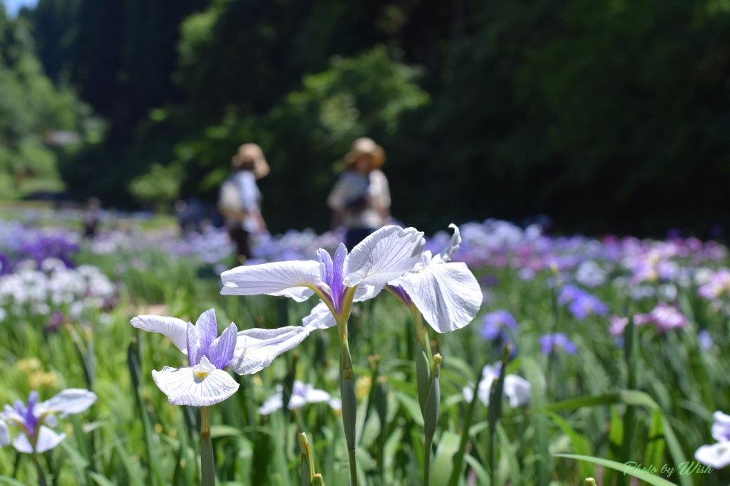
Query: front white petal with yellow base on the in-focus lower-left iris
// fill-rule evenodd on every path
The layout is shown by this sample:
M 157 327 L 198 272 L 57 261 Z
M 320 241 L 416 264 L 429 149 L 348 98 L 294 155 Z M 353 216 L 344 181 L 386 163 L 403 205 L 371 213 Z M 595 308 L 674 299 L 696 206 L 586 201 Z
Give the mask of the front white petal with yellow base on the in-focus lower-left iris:
M 220 403 L 238 390 L 236 380 L 222 369 L 200 375 L 193 367 L 164 367 L 162 371 L 152 372 L 155 384 L 173 405 L 208 407 Z

